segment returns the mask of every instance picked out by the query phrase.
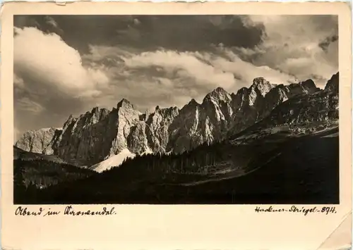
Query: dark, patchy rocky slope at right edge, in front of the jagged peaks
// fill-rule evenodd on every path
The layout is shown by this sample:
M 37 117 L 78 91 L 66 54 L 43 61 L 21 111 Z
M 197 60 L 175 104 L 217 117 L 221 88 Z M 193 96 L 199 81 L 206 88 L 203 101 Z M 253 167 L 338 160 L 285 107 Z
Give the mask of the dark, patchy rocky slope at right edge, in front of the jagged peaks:
M 282 102 L 263 120 L 229 137 L 231 142 L 239 139 L 259 138 L 274 132 L 290 132 L 308 135 L 312 132 L 332 129 L 339 120 L 338 77 L 329 80 L 325 89 L 301 94 Z M 250 136 L 251 135 L 251 136 Z M 235 140 L 233 140 L 235 139 Z

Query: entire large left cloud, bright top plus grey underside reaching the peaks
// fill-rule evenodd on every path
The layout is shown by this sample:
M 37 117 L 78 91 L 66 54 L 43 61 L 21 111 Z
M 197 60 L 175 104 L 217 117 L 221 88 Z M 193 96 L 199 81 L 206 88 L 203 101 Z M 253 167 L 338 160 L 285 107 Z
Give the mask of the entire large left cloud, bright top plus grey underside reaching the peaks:
M 83 65 L 76 49 L 59 35 L 35 27 L 15 29 L 15 125 L 23 133 L 59 127 L 68 115 L 84 113 L 107 91 L 104 65 Z

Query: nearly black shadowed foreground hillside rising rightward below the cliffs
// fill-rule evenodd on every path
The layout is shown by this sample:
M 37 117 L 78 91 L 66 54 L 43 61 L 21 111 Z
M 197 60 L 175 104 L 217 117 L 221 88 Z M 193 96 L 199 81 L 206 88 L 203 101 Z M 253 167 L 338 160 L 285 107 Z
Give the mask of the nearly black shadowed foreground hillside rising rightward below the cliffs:
M 273 135 L 249 145 L 222 142 L 176 156 L 139 156 L 83 180 L 33 189 L 28 203 L 338 204 L 337 133 Z

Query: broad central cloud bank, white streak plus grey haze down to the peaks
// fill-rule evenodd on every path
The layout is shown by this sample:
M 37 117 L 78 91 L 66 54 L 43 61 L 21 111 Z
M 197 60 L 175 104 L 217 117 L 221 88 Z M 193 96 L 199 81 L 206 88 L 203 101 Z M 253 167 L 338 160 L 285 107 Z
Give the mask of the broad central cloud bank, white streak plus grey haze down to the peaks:
M 253 78 L 263 76 L 273 83 L 294 82 L 292 75 L 268 66 L 243 61 L 232 50 L 219 46 L 210 51 L 127 51 L 116 47 L 90 46 L 85 60 L 109 62 L 109 94 L 97 103 L 112 106 L 121 98 L 141 110 L 155 106 L 179 106 L 191 98 L 202 101 L 217 87 L 237 92 L 251 85 Z M 111 59 L 111 60 L 109 60 Z M 114 101 L 114 102 L 113 102 Z

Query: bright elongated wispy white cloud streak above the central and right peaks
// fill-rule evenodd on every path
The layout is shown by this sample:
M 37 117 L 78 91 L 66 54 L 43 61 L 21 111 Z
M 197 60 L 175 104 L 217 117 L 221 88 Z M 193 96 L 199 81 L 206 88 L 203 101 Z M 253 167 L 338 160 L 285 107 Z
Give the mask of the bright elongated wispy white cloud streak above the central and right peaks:
M 208 91 L 223 87 L 234 92 L 239 87 L 251 85 L 253 78 L 260 76 L 283 84 L 295 80 L 291 75 L 268 66 L 256 66 L 243 61 L 237 54 L 222 47 L 217 49 L 216 54 L 198 51 L 153 51 L 124 58 L 124 61 L 128 68 L 156 66 L 162 68 L 169 77 L 193 78 L 193 85 Z

